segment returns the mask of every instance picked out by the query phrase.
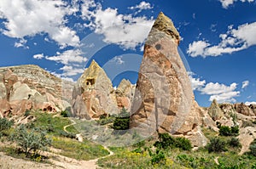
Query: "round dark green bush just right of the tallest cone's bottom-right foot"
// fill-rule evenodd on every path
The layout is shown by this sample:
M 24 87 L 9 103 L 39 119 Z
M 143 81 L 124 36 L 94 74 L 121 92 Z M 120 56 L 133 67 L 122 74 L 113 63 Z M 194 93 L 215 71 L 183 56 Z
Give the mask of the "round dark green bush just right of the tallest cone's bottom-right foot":
M 210 143 L 207 144 L 208 152 L 223 152 L 226 151 L 226 143 L 220 138 L 210 139 Z

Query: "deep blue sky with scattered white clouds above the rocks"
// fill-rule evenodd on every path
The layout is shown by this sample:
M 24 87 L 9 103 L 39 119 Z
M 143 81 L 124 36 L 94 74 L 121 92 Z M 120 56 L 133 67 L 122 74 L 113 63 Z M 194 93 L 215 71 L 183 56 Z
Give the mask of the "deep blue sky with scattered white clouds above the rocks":
M 96 59 L 114 86 L 136 83 L 160 11 L 180 32 L 201 106 L 256 101 L 255 0 L 1 0 L 0 66 L 35 64 L 76 81 Z

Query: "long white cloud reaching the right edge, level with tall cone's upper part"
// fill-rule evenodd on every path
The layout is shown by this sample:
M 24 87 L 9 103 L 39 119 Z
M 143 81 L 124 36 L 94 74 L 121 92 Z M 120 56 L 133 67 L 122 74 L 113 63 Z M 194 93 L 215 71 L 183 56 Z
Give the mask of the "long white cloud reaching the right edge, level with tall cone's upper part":
M 237 51 L 256 45 L 256 22 L 240 25 L 233 28 L 229 26 L 225 34 L 220 34 L 220 42 L 212 45 L 206 40 L 195 41 L 189 44 L 187 54 L 192 57 L 219 56 L 222 54 L 232 54 Z

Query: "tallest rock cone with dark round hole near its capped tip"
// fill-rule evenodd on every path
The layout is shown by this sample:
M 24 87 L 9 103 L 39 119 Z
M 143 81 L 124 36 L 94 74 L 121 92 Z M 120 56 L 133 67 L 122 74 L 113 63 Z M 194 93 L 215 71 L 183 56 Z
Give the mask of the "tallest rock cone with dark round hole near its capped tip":
M 207 138 L 200 126 L 214 126 L 214 122 L 195 102 L 189 76 L 177 52 L 179 41 L 172 20 L 160 13 L 145 42 L 130 127 L 143 136 L 168 132 L 202 146 L 207 144 Z

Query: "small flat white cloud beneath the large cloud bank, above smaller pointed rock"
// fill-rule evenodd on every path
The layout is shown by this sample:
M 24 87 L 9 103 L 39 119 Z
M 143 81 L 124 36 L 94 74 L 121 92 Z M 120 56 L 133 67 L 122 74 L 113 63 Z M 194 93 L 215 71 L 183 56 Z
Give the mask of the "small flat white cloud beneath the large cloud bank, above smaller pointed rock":
M 87 59 L 83 57 L 82 54 L 83 53 L 80 49 L 74 49 L 74 50 L 67 50 L 62 54 L 57 53 L 55 56 L 46 56 L 45 59 L 53 60 L 63 65 L 68 65 L 71 63 L 83 64 L 87 61 Z

